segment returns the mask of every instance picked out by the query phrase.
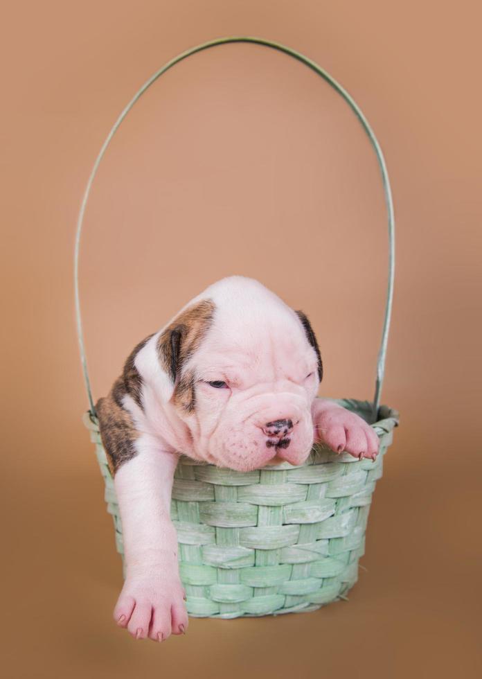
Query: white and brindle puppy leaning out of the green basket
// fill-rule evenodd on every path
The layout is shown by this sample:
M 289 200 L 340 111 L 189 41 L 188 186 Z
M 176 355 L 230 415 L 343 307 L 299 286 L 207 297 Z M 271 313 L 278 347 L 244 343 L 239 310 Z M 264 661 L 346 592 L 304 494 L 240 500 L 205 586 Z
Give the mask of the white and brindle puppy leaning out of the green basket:
M 314 441 L 375 459 L 373 429 L 316 398 L 322 377 L 306 315 L 245 276 L 209 285 L 127 358 L 96 410 L 123 525 L 114 619 L 136 639 L 188 626 L 170 521 L 179 452 L 240 471 L 303 464 Z

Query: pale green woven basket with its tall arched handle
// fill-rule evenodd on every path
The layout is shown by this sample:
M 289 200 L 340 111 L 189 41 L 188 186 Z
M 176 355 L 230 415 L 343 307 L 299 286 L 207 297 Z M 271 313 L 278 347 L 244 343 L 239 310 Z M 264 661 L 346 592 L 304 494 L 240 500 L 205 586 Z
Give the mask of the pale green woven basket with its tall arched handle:
M 90 409 L 84 424 L 105 480 L 107 511 L 114 518 L 117 551 L 123 534 L 114 481 L 102 447 L 84 349 L 78 259 L 84 212 L 100 161 L 123 118 L 152 83 L 177 62 L 211 46 L 250 42 L 282 51 L 309 66 L 328 82 L 357 115 L 377 155 L 389 224 L 389 277 L 382 342 L 373 401 L 337 400 L 371 424 L 380 437 L 375 462 L 358 460 L 315 445 L 305 464 L 285 462 L 248 473 L 204 464 L 181 455 L 172 489 L 171 518 L 179 542 L 179 570 L 188 613 L 195 617 L 249 617 L 316 610 L 346 599 L 357 581 L 375 482 L 398 425 L 398 412 L 380 406 L 394 279 L 394 218 L 389 177 L 380 145 L 357 104 L 321 67 L 300 53 L 256 37 L 224 37 L 181 53 L 165 64 L 136 93 L 112 127 L 93 166 L 78 217 L 74 279 L 80 357 Z M 123 558 L 123 572 L 125 562 Z

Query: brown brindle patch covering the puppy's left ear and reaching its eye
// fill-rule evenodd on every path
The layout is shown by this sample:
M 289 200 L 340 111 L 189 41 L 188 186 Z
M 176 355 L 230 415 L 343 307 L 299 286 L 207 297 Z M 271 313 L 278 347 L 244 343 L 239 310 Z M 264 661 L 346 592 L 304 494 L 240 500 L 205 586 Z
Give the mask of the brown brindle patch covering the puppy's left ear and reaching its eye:
M 159 361 L 173 384 L 188 358 L 199 348 L 211 326 L 214 311 L 213 300 L 203 299 L 181 312 L 159 335 Z M 181 376 L 173 394 L 175 405 L 186 412 L 193 412 L 195 407 L 194 382 L 193 372 L 188 371 L 185 376 Z

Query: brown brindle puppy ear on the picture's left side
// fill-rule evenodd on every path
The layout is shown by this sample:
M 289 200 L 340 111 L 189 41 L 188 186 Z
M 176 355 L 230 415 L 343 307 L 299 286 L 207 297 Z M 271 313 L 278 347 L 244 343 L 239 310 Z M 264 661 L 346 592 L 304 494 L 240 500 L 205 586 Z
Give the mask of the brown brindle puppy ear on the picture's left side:
M 181 311 L 157 340 L 157 355 L 161 368 L 170 378 L 170 396 L 179 382 L 184 364 L 201 344 L 213 321 L 215 303 L 203 299 Z

